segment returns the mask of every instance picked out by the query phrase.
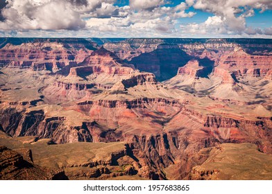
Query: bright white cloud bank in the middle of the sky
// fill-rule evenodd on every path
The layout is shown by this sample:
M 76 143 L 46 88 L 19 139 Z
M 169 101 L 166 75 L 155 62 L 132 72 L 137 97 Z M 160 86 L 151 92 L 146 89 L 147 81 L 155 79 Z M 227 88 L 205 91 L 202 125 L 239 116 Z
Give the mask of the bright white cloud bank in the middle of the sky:
M 124 32 L 128 36 L 162 36 L 177 33 L 175 25 L 182 17 L 192 17 L 194 12 L 186 12 L 189 6 L 180 3 L 177 6 L 158 6 L 151 9 L 133 11 L 130 6 L 116 8 L 114 12 L 118 17 L 112 15 L 108 18 L 87 19 L 86 27 L 99 32 Z M 124 17 L 121 17 L 125 15 Z M 120 35 L 119 35 L 120 36 Z

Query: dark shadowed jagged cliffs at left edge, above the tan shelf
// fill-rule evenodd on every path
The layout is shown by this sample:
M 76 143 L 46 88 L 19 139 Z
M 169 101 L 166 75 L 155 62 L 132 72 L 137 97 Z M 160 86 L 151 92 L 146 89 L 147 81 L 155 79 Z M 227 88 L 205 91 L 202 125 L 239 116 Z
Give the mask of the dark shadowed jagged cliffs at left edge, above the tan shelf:
M 92 141 L 84 126 L 66 123 L 65 116 L 46 116 L 44 111 L 17 112 L 6 109 L 1 115 L 3 131 L 11 136 L 37 136 L 50 138 L 56 143 Z

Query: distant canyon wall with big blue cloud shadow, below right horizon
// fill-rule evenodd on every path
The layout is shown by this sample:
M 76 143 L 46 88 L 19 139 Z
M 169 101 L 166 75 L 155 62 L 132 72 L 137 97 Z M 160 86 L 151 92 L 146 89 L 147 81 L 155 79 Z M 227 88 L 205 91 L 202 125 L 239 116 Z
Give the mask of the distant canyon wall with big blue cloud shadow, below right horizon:
M 159 80 L 175 76 L 176 72 L 171 72 L 171 69 L 177 70 L 191 58 L 208 58 L 217 64 L 221 56 L 222 58 L 230 56 L 225 64 L 239 65 L 244 60 L 247 64 L 262 66 L 262 62 L 271 55 L 270 40 L 260 39 L 125 39 L 121 42 L 108 42 L 105 48 L 135 64 L 137 69 L 154 73 Z M 240 52 L 238 55 L 232 53 L 237 51 Z M 164 62 L 170 62 L 168 67 L 172 68 L 164 69 Z M 250 74 L 250 71 L 248 73 Z

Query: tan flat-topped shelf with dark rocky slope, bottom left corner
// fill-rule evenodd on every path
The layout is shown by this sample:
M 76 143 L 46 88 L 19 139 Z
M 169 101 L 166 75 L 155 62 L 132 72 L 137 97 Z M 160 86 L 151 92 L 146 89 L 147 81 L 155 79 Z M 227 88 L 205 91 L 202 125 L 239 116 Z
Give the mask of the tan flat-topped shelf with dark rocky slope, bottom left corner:
M 122 142 L 56 145 L 50 139 L 37 141 L 34 136 L 11 138 L 0 132 L 0 145 L 16 149 L 21 155 L 24 150 L 31 149 L 31 161 L 26 161 L 17 152 L 1 146 L 0 165 L 3 170 L 0 179 L 146 177 L 143 173 L 146 166 L 141 166 Z

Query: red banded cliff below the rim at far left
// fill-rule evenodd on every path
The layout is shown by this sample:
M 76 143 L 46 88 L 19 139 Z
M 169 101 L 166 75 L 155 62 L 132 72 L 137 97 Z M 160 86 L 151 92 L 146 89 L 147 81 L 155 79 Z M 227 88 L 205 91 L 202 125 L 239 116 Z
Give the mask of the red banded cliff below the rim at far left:
M 2 67 L 33 69 L 33 71 L 58 71 L 67 65 L 78 64 L 90 55 L 92 51 L 85 46 L 87 45 L 50 42 L 45 39 L 21 45 L 8 43 L 0 48 L 0 64 Z

